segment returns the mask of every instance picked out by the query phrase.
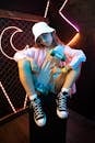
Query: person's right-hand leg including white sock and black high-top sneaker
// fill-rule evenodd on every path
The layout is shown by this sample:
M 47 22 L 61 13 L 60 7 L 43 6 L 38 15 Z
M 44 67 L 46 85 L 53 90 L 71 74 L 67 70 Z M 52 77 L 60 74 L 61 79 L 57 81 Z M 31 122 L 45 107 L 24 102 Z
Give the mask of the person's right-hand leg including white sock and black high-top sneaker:
M 68 108 L 67 108 L 67 101 L 69 96 L 69 89 L 72 87 L 74 81 L 80 76 L 81 67 L 74 69 L 71 69 L 69 73 L 67 73 L 64 76 L 60 76 L 58 84 L 60 85 L 59 90 L 61 90 L 57 96 L 57 114 L 61 119 L 68 118 Z

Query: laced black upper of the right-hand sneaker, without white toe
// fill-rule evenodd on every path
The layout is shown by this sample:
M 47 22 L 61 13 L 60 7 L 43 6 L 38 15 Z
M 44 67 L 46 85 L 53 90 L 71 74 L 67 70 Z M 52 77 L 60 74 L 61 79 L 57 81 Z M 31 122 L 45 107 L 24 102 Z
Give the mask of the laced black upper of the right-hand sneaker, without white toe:
M 58 95 L 58 108 L 60 111 L 66 111 L 67 110 L 67 98 L 68 98 L 68 92 L 60 92 Z

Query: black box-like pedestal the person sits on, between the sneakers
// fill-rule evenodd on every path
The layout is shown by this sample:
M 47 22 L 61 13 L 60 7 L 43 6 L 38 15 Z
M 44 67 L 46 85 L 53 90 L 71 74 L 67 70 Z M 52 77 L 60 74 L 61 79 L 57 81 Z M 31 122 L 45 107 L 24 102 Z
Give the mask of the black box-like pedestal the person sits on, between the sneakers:
M 54 95 L 40 97 L 44 111 L 47 116 L 45 127 L 37 127 L 34 122 L 33 111 L 29 110 L 29 139 L 31 143 L 66 143 L 67 119 L 59 119 L 56 113 L 56 98 Z

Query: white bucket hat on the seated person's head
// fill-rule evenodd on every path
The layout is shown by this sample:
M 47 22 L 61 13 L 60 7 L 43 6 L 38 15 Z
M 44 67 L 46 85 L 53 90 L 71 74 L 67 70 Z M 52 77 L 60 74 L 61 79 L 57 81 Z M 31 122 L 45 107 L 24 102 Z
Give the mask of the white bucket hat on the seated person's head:
M 35 36 L 35 42 L 36 42 L 39 35 L 44 33 L 55 32 L 55 29 L 50 28 L 46 22 L 38 22 L 33 25 L 32 31 L 33 31 L 33 34 Z

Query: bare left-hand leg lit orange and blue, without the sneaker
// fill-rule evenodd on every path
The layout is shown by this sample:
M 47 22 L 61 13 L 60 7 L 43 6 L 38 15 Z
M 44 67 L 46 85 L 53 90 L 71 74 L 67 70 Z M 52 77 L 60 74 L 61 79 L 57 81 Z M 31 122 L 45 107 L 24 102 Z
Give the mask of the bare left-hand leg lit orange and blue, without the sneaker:
M 22 59 L 19 62 L 17 65 L 19 65 L 20 80 L 24 89 L 26 90 L 28 98 L 31 98 L 32 95 L 36 94 L 34 82 L 33 82 L 31 62 L 27 59 Z

